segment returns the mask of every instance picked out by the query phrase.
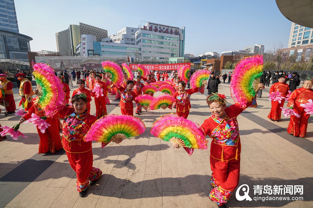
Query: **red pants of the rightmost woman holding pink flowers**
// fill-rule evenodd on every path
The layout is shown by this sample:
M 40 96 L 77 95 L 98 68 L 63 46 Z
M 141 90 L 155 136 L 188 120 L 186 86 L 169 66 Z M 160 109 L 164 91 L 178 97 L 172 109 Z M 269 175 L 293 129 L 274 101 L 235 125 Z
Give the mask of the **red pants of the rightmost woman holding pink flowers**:
M 291 115 L 290 122 L 288 124 L 287 132 L 293 134 L 295 137 L 305 137 L 306 128 L 308 127 L 308 120 L 310 114 L 306 114 L 304 108 L 301 107 L 298 103 L 295 103 L 294 111 L 300 115 L 300 118 Z

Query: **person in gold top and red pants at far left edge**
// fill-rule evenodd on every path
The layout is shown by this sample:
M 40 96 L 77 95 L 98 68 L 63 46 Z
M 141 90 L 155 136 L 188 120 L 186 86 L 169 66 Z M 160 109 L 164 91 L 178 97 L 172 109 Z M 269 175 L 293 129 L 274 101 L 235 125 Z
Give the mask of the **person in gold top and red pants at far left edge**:
M 7 79 L 7 75 L 0 74 L 0 102 L 3 104 L 3 99 L 5 100 L 5 108 L 7 109 L 8 114 L 13 114 L 16 110 L 12 89 L 13 84 Z

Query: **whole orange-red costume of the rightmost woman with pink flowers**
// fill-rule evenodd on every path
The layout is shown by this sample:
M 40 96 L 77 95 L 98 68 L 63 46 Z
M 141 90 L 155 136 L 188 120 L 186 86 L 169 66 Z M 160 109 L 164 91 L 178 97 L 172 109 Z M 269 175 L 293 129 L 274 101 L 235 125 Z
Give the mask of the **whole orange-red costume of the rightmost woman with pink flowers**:
M 307 103 L 309 99 L 313 99 L 313 89 L 305 89 L 303 87 L 295 89 L 289 97 L 287 106 L 294 105 L 294 111 L 300 115 L 300 118 L 291 115 L 287 128 L 287 132 L 293 134 L 295 137 L 299 136 L 304 138 L 306 135 L 310 114 L 306 114 L 300 104 Z

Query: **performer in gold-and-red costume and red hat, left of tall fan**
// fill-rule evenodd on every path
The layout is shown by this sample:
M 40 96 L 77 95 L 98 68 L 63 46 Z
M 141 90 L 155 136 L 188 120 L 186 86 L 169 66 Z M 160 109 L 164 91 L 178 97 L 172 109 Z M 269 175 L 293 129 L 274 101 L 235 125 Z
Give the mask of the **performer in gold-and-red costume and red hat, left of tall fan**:
M 25 111 L 28 111 L 28 109 L 32 107 L 32 99 L 34 95 L 32 83 L 26 78 L 26 75 L 23 73 L 18 73 L 15 76 L 21 82 L 18 95 L 20 95 L 22 99 L 18 106 L 22 105 L 23 109 L 25 109 Z

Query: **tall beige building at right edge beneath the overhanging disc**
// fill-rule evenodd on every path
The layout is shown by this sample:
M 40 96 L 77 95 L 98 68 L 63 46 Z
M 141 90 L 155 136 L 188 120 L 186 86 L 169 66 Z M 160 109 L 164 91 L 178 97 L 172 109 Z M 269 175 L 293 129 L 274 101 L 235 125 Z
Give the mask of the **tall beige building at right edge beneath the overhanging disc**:
M 288 48 L 313 43 L 313 29 L 291 22 Z

